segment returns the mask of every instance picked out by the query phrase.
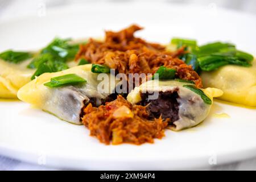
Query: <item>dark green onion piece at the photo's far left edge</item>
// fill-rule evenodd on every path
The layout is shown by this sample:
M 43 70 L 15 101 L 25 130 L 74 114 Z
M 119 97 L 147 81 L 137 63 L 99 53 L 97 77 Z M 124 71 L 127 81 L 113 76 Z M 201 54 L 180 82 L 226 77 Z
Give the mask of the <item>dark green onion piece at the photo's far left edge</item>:
M 0 53 L 0 58 L 2 60 L 8 61 L 10 63 L 18 64 L 24 60 L 31 58 L 33 55 L 30 52 L 15 52 L 12 50 Z

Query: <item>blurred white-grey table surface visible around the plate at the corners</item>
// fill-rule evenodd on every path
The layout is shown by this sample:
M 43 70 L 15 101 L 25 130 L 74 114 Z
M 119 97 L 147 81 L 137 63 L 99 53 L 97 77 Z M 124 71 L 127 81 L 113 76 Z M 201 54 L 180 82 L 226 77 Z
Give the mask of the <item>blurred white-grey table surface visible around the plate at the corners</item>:
M 89 0 L 92 2 L 92 0 Z M 100 1 L 100 0 L 96 0 Z M 105 0 L 107 1 L 107 0 Z M 117 1 L 117 0 L 115 0 Z M 120 0 L 121 1 L 121 0 Z M 163 1 L 163 0 L 162 0 Z M 64 1 L 49 1 L 49 0 L 0 0 L 0 21 L 15 18 L 18 16 L 30 15 L 36 13 L 38 6 L 42 3 L 47 5 L 47 8 L 68 5 L 69 3 L 81 2 L 80 0 L 64 0 Z M 113 1 L 112 1 L 113 2 Z M 146 1 L 145 1 L 146 2 Z M 147 1 L 148 2 L 148 1 Z M 175 0 L 167 0 L 168 2 L 177 2 Z M 255 0 L 224 0 L 224 1 L 200 1 L 200 0 L 181 0 L 180 3 L 197 3 L 209 6 L 209 3 L 214 3 L 214 6 L 228 7 L 240 11 L 247 11 L 249 13 L 256 12 Z M 0 170 L 61 170 L 61 168 L 53 168 L 43 165 L 29 164 L 15 159 L 6 158 L 0 155 Z M 199 170 L 256 170 L 256 158 L 244 160 L 242 162 L 235 162 L 225 165 L 212 165 Z

